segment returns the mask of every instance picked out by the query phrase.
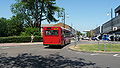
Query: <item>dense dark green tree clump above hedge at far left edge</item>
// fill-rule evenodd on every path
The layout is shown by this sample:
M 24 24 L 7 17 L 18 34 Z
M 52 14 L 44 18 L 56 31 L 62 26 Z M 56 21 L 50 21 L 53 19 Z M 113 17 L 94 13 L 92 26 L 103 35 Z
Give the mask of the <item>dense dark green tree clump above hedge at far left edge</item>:
M 17 36 L 23 30 L 23 23 L 16 16 L 11 19 L 0 18 L 0 27 L 0 37 Z

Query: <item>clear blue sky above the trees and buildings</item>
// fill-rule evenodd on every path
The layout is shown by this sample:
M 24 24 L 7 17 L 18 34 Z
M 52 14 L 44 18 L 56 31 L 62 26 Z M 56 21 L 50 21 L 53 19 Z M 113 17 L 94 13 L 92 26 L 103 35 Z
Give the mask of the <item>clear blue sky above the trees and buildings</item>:
M 0 2 L 0 17 L 10 18 L 12 13 L 10 5 L 14 0 L 2 0 Z M 79 31 L 91 30 L 110 20 L 111 8 L 113 10 L 120 5 L 120 0 L 57 0 L 57 6 L 63 7 L 69 18 L 66 18 L 68 25 Z M 54 24 L 54 23 L 52 23 Z

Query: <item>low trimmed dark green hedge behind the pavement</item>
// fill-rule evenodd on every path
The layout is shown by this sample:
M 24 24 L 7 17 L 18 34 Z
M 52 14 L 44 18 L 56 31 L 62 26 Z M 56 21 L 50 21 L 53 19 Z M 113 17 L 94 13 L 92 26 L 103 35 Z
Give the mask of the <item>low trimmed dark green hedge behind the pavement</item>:
M 41 42 L 41 36 L 35 36 L 33 42 Z M 0 37 L 0 43 L 22 43 L 31 42 L 31 36 L 13 36 L 13 37 Z

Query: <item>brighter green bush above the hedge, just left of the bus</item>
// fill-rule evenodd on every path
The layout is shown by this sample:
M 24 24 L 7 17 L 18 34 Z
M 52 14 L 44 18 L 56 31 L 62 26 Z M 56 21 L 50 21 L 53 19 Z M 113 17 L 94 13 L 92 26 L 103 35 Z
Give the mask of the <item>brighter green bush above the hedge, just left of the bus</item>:
M 40 36 L 40 29 L 39 28 L 32 28 L 32 27 L 27 27 L 25 28 L 25 32 L 21 33 L 21 36 Z

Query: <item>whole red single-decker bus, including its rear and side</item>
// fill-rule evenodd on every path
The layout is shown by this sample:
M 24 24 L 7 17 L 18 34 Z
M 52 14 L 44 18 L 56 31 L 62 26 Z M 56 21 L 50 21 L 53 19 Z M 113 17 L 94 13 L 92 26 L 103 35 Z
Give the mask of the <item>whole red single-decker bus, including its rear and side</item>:
M 63 46 L 71 42 L 71 32 L 61 27 L 43 27 L 43 45 Z

